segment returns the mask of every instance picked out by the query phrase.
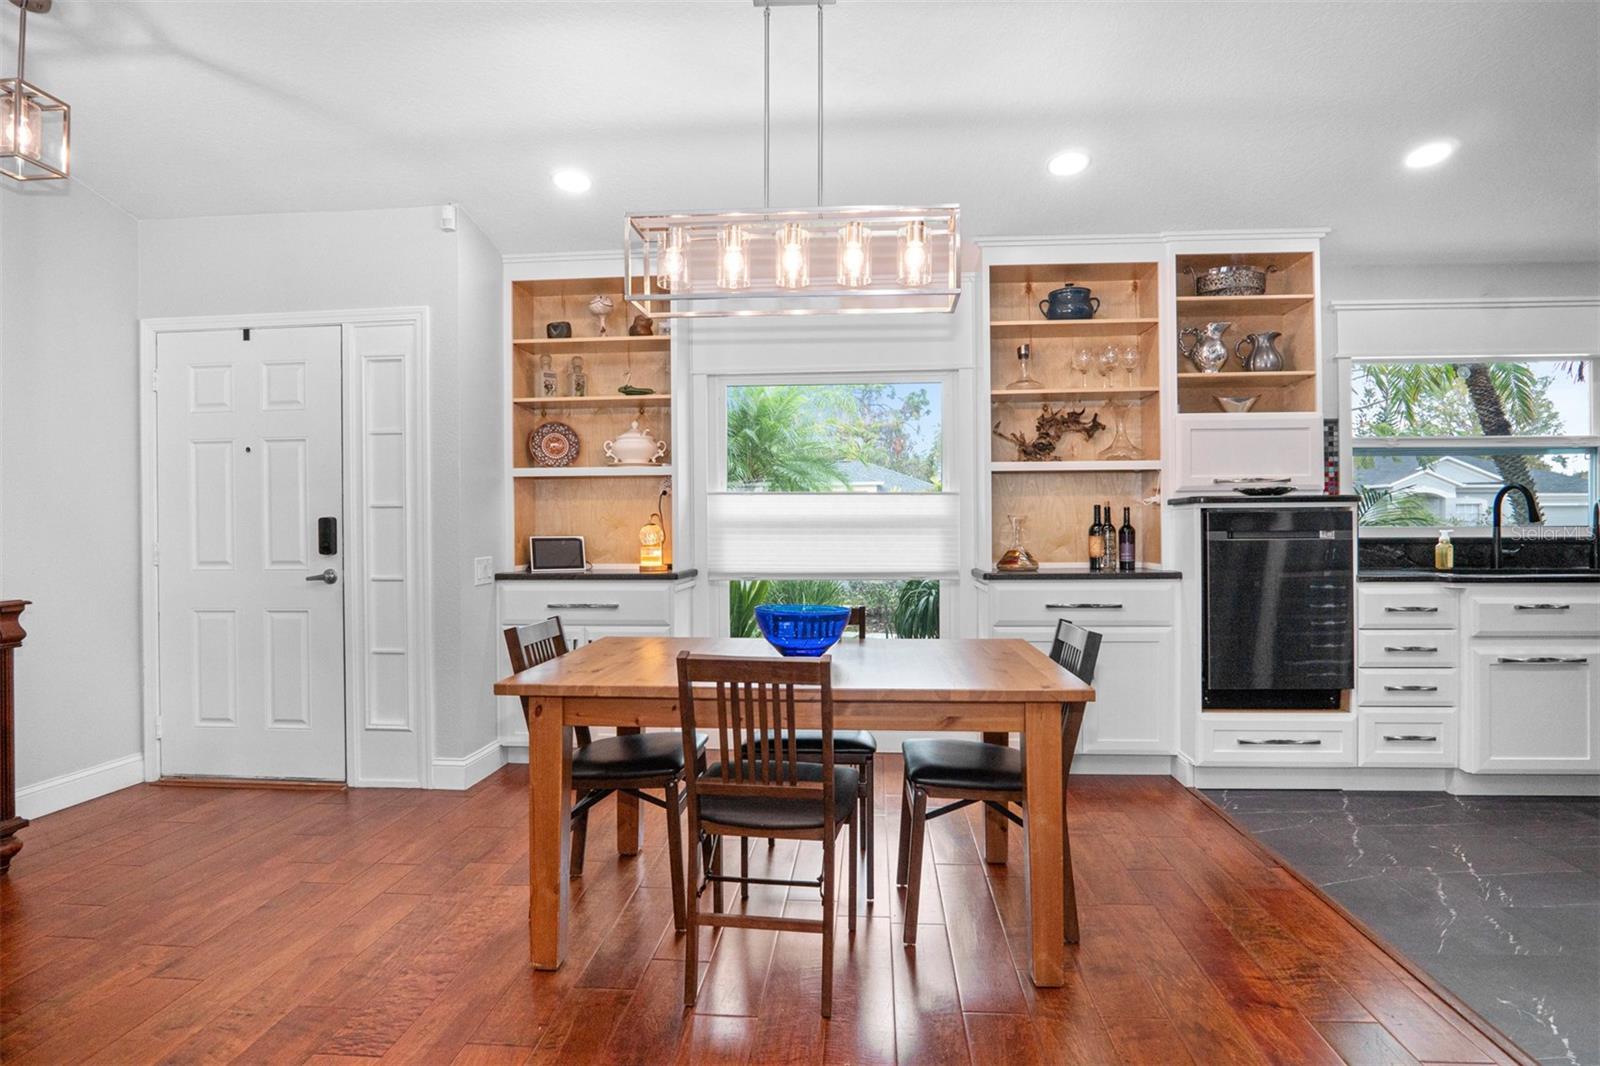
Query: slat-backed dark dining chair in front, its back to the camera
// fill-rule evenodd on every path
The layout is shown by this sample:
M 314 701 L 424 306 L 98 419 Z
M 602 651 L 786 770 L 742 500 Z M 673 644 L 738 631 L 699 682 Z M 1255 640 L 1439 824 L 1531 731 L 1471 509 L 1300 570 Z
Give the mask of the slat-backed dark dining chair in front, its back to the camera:
M 795 741 L 795 690 L 819 703 L 822 751 L 819 762 L 800 759 Z M 694 1005 L 699 978 L 699 927 L 770 928 L 822 935 L 822 1016 L 834 1010 L 834 909 L 835 842 L 840 828 L 850 829 L 845 856 L 850 860 L 850 932 L 856 932 L 856 799 L 861 775 L 854 767 L 837 765 L 834 752 L 832 659 L 731 658 L 678 653 L 678 712 L 683 720 L 683 751 L 694 736 L 694 706 L 715 701 L 720 762 L 704 773 L 690 775 L 690 839 L 710 839 L 706 877 L 701 880 L 701 848 L 690 848 L 690 892 L 685 912 L 688 936 L 683 962 L 683 1005 Z M 739 876 L 722 871 L 726 837 L 782 837 L 822 844 L 822 872 L 816 880 L 784 880 Z M 822 917 L 798 919 L 760 914 L 728 914 L 723 884 L 739 884 L 741 895 L 755 885 L 818 888 Z M 706 885 L 712 887 L 712 911 L 699 909 Z

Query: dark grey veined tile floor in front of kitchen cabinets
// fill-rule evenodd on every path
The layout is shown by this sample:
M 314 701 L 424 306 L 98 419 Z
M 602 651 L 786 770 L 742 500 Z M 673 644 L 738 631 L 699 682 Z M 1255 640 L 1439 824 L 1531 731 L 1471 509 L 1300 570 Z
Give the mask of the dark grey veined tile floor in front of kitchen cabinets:
M 1206 794 L 1525 1052 L 1600 1064 L 1600 800 Z

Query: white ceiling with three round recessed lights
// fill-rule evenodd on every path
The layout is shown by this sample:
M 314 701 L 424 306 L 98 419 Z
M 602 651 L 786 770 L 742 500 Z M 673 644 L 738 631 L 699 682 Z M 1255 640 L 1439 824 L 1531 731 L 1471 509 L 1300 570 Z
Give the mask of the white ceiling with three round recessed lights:
M 773 202 L 806 205 L 814 14 L 773 27 Z M 504 251 L 562 251 L 618 243 L 629 208 L 760 202 L 749 0 L 56 0 L 29 30 L 75 173 L 138 218 L 453 200 Z M 1350 261 L 1589 261 L 1597 54 L 1594 2 L 838 0 L 827 200 L 958 202 L 973 235 L 1331 226 Z M 1440 136 L 1448 163 L 1400 165 Z M 1090 170 L 1048 176 L 1062 147 Z

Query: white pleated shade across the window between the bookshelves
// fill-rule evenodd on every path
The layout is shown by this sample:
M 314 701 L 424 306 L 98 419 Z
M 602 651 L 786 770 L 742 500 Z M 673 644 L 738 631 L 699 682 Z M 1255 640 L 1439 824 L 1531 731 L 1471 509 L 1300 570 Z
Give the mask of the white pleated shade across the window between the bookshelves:
M 957 493 L 709 493 L 714 578 L 955 576 Z

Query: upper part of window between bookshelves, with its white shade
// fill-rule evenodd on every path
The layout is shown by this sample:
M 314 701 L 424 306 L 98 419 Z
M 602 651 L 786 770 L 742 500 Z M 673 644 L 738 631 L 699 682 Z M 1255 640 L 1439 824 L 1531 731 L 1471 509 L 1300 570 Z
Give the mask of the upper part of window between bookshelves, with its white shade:
M 952 379 L 712 383 L 712 578 L 949 578 L 960 507 L 944 456 Z

